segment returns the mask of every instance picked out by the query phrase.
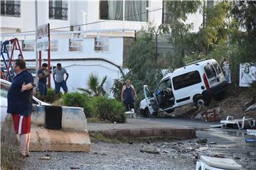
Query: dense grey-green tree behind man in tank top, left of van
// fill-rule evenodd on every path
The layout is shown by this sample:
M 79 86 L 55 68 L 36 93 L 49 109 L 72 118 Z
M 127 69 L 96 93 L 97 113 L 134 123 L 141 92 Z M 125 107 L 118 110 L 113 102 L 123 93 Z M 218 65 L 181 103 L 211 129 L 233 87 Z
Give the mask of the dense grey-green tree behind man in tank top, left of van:
M 161 71 L 155 59 L 154 33 L 142 30 L 141 36 L 130 47 L 127 66 L 127 79 L 131 79 L 134 86 L 156 86 Z

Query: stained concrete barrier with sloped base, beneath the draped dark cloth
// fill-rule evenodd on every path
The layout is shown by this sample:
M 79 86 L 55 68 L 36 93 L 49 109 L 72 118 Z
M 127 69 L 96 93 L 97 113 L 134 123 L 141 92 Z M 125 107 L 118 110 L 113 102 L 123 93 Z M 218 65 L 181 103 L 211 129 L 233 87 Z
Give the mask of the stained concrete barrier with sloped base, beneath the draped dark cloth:
M 44 106 L 33 106 L 31 115 L 31 151 L 90 152 L 91 142 L 83 108 L 62 106 L 61 130 L 45 126 Z

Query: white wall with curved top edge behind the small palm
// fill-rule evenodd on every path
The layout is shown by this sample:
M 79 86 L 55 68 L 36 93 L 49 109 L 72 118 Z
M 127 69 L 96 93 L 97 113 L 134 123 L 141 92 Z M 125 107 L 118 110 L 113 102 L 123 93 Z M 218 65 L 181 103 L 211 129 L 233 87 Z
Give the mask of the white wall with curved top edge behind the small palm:
M 107 94 L 112 97 L 110 88 L 114 83 L 114 79 L 119 79 L 122 77 L 122 73 L 114 65 L 104 62 L 104 61 L 92 61 L 92 60 L 69 60 L 69 61 L 51 61 L 50 65 L 55 67 L 57 63 L 61 63 L 62 66 L 67 69 L 69 78 L 67 81 L 68 91 L 78 91 L 79 87 L 84 89 L 87 88 L 87 79 L 90 74 L 95 74 L 100 82 L 102 78 L 107 76 L 107 81 L 105 82 L 103 88 Z M 26 64 L 31 66 L 34 62 L 27 61 Z M 50 75 L 50 84 L 53 89 L 55 89 L 55 84 L 53 81 L 53 74 Z M 61 91 L 63 91 L 61 89 Z

